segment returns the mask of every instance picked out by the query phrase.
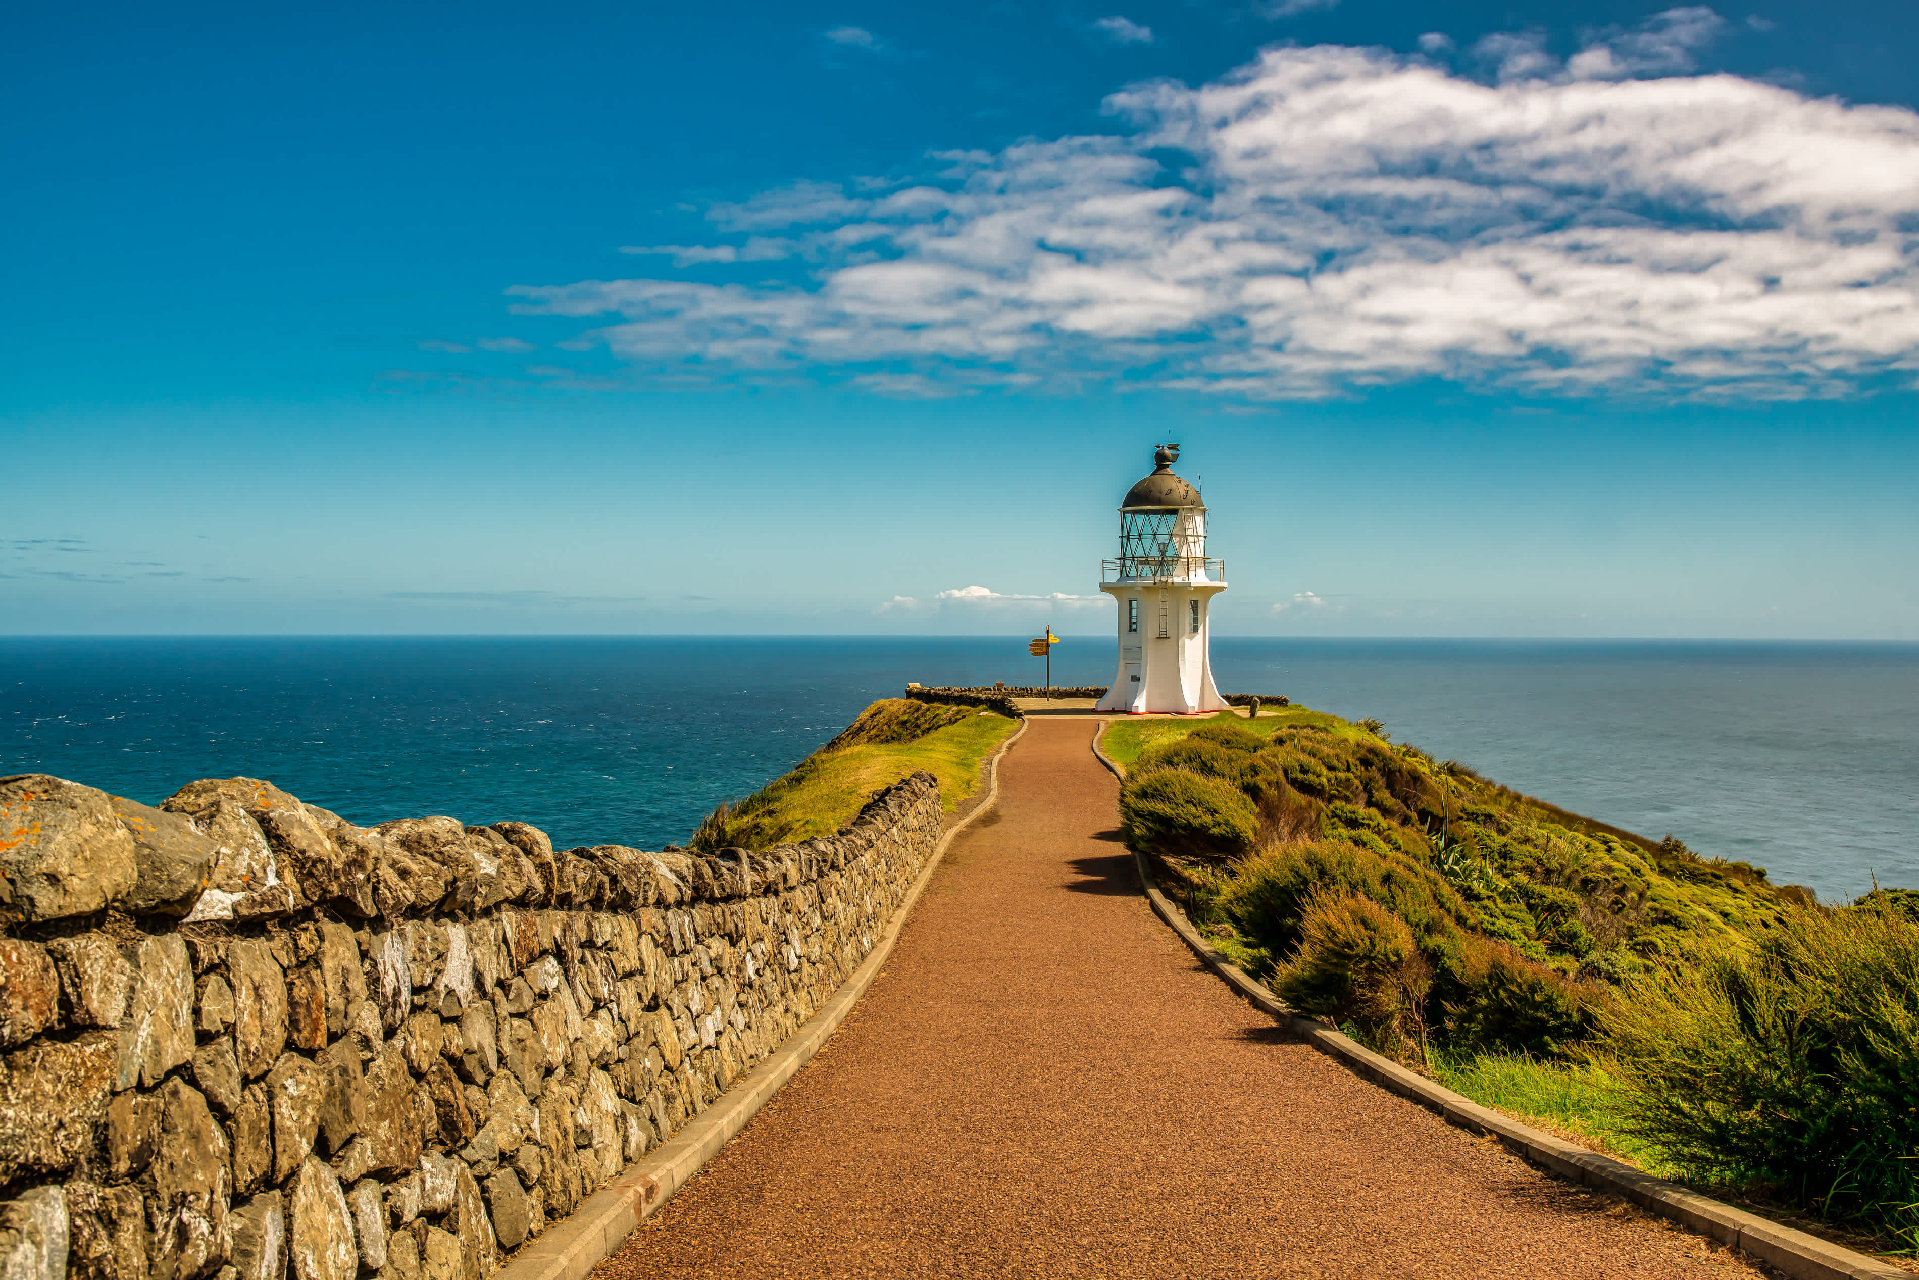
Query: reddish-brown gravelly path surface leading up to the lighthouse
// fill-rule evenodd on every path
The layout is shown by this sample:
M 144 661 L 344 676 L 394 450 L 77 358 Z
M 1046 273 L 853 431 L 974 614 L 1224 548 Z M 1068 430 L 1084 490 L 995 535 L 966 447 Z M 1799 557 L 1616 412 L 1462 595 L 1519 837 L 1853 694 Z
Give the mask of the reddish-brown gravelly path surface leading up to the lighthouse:
M 833 1042 L 599 1280 L 1756 1274 L 1230 996 L 1140 896 L 1094 727 L 1031 722 Z

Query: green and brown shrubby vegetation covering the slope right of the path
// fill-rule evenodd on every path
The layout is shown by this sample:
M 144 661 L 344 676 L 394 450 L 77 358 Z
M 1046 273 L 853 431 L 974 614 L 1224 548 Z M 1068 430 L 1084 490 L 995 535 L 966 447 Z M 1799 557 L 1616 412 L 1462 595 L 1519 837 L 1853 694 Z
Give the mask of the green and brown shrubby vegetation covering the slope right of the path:
M 1128 842 L 1293 1007 L 1654 1173 L 1919 1244 L 1913 894 L 1819 904 L 1307 708 L 1103 750 Z

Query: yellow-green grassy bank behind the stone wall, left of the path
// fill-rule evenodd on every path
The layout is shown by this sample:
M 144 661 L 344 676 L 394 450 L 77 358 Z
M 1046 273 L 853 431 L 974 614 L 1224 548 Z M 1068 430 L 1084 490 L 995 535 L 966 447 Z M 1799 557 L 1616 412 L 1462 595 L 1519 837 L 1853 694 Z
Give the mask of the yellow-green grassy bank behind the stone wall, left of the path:
M 714 808 L 687 846 L 697 852 L 729 846 L 764 850 L 833 835 L 875 791 L 913 770 L 938 779 L 940 804 L 950 814 L 973 794 L 981 764 L 1017 723 L 973 706 L 881 699 L 791 773 L 743 800 Z

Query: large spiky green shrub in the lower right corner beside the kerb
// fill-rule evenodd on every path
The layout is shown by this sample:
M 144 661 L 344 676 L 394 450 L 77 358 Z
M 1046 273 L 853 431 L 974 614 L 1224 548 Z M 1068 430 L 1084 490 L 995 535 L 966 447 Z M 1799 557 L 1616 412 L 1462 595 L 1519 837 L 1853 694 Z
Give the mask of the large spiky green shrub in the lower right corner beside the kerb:
M 1629 979 L 1595 1054 L 1627 1132 L 1919 1244 L 1919 925 L 1796 908 L 1748 946 Z

